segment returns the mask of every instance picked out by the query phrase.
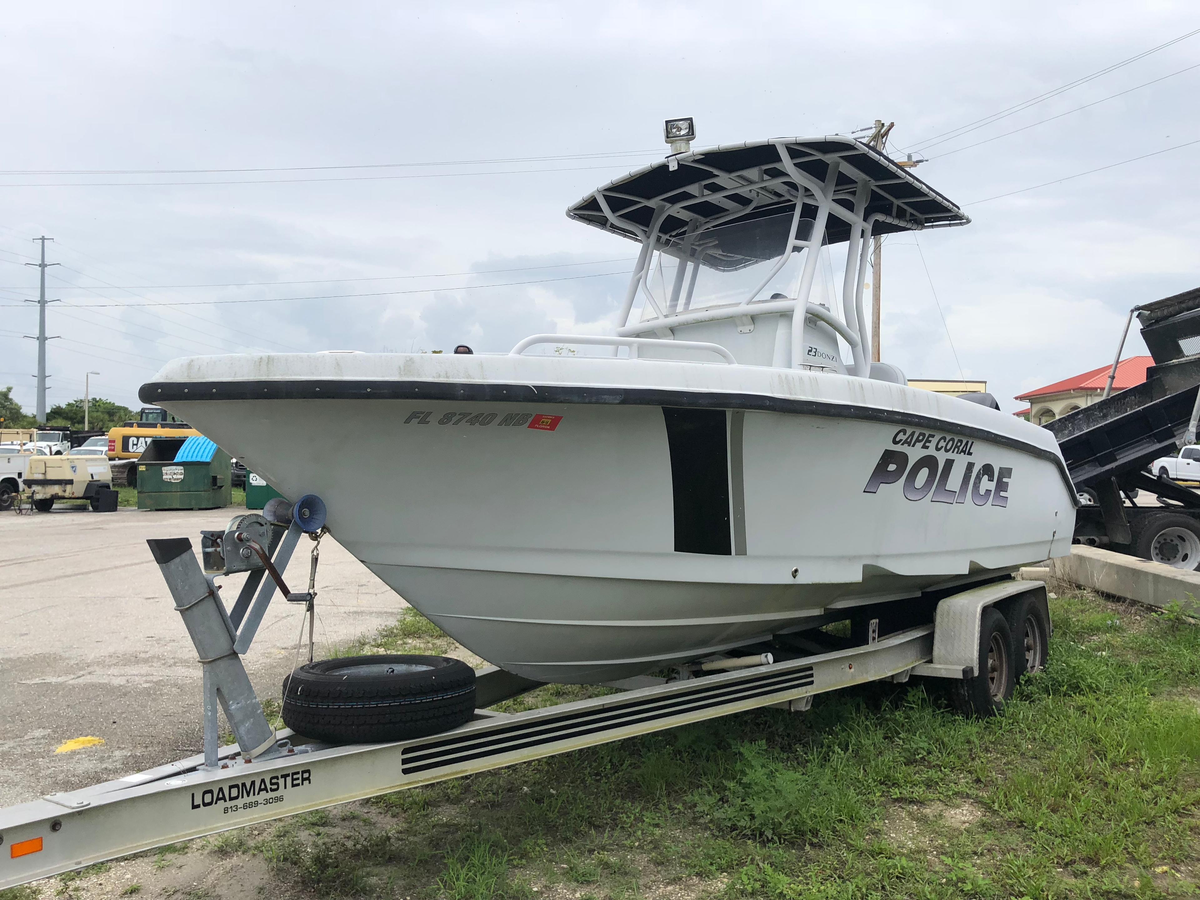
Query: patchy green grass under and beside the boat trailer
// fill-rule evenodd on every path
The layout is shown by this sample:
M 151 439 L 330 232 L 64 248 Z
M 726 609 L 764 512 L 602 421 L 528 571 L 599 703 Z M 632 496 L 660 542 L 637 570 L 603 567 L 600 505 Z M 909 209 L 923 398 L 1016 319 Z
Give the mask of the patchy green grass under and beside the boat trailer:
M 937 682 L 822 695 L 211 839 L 284 893 L 451 898 L 1200 894 L 1200 626 L 1074 593 L 1003 716 Z M 415 611 L 353 652 L 444 652 Z M 604 689 L 547 685 L 529 708 Z M 10 900 L 0 894 L 0 898 Z M 24 895 L 13 895 L 25 900 Z

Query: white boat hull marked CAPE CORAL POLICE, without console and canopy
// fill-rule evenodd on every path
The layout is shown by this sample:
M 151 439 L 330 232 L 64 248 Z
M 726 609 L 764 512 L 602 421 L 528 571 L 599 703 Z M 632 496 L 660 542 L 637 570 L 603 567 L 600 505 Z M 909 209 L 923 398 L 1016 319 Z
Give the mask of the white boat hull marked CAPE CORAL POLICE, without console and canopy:
M 262 391 L 176 374 L 156 383 L 170 398 L 155 385 L 143 398 L 284 496 L 323 497 L 338 542 L 413 606 L 484 659 L 547 682 L 644 673 L 1069 551 L 1074 506 L 1052 440 L 1027 426 L 1036 439 L 1022 444 L 1010 416 L 961 401 L 917 413 L 905 403 L 932 395 L 898 385 L 868 385 L 886 406 L 805 395 L 830 376 L 798 377 L 781 397 L 666 377 L 571 386 L 569 368 L 558 383 L 529 372 L 540 384 L 438 371 L 394 390 L 346 373 Z M 947 403 L 972 408 L 955 420 Z M 314 449 L 334 434 L 359 439 Z

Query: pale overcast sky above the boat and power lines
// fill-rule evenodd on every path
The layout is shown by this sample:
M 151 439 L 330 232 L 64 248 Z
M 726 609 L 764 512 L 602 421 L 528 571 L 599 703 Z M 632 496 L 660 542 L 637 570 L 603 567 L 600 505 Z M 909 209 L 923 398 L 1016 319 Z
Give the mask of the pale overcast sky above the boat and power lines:
M 0 385 L 32 410 L 41 234 L 65 301 L 49 402 L 95 370 L 94 395 L 137 406 L 180 355 L 608 330 L 636 246 L 563 212 L 660 158 L 662 119 L 695 116 L 701 148 L 881 118 L 973 218 L 889 239 L 883 359 L 1015 410 L 1106 365 L 1129 306 L 1200 283 L 1200 144 L 988 198 L 1200 139 L 1200 68 L 1178 73 L 1200 35 L 930 139 L 1195 29 L 1186 2 L 10 5 Z M 254 184 L 157 184 L 215 181 Z

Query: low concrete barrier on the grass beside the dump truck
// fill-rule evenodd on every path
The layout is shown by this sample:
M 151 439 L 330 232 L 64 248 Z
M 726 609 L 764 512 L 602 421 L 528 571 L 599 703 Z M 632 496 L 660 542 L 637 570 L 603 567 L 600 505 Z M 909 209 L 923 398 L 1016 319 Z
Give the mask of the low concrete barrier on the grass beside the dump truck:
M 1158 607 L 1178 601 L 1186 611 L 1200 612 L 1200 572 L 1080 544 L 1049 568 L 1052 577 L 1072 584 Z

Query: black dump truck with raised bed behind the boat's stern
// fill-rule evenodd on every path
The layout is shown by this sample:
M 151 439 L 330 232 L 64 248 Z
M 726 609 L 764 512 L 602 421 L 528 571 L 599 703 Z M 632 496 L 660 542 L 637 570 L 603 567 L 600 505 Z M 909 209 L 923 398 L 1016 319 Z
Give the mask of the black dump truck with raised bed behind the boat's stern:
M 1195 569 L 1200 494 L 1151 474 L 1150 464 L 1175 454 L 1193 425 L 1200 392 L 1200 288 L 1134 312 L 1154 359 L 1145 383 L 1045 427 L 1058 439 L 1084 504 L 1075 517 L 1076 544 Z

